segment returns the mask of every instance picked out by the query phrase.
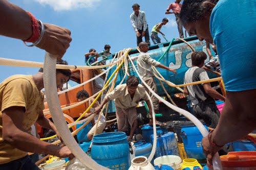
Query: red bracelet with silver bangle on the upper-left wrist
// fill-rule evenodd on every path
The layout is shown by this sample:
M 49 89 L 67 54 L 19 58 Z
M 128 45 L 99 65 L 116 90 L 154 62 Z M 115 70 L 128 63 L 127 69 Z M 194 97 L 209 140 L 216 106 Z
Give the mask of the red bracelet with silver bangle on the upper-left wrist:
M 44 23 L 42 23 L 40 20 L 38 20 L 40 25 L 41 25 L 41 33 L 40 33 L 39 25 L 38 25 L 37 20 L 35 19 L 35 17 L 30 12 L 28 12 L 28 14 L 31 17 L 33 34 L 29 39 L 27 39 L 23 42 L 27 46 L 35 46 L 41 41 L 42 36 L 44 35 L 44 32 L 45 32 L 45 26 L 44 26 Z M 26 42 L 34 42 L 34 43 L 28 45 Z

